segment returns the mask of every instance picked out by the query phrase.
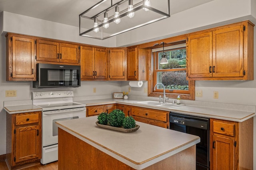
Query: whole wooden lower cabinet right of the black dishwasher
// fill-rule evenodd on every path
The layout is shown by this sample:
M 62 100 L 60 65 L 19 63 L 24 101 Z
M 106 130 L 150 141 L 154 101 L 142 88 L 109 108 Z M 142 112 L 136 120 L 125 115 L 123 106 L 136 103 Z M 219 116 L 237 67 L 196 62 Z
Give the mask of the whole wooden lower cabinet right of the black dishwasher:
M 210 169 L 253 169 L 253 117 L 243 122 L 210 119 Z

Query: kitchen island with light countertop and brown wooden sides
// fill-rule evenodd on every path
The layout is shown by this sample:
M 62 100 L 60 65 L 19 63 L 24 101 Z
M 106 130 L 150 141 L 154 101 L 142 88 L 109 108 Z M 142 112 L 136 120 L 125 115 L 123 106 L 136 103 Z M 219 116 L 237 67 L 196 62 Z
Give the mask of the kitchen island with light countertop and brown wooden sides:
M 100 128 L 97 117 L 58 121 L 58 168 L 90 170 L 196 169 L 200 138 L 136 122 L 136 132 Z

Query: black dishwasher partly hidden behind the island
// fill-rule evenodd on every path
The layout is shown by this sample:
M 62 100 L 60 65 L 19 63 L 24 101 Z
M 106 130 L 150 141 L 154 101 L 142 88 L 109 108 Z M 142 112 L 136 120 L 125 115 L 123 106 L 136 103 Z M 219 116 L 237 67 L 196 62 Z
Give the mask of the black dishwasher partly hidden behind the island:
M 200 143 L 196 144 L 196 170 L 209 170 L 210 119 L 170 112 L 169 122 L 169 128 L 174 131 L 180 131 L 200 137 Z

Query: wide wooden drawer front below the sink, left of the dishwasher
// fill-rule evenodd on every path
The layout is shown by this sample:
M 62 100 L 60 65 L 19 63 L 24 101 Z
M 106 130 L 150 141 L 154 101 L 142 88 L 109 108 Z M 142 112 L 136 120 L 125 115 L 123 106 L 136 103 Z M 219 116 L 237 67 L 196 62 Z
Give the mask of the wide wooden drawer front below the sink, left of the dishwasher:
M 132 108 L 132 115 L 167 122 L 167 112 L 154 109 Z

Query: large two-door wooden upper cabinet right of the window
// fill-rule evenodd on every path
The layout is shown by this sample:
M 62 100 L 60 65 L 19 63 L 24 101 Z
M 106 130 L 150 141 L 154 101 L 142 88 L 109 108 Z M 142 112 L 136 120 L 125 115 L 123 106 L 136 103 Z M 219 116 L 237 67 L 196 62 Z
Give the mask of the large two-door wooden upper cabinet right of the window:
M 253 80 L 253 27 L 244 21 L 188 35 L 190 80 Z

